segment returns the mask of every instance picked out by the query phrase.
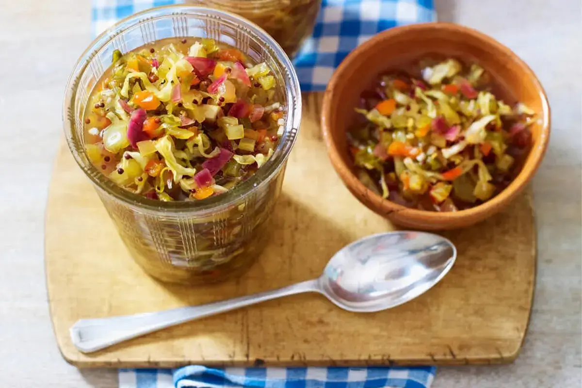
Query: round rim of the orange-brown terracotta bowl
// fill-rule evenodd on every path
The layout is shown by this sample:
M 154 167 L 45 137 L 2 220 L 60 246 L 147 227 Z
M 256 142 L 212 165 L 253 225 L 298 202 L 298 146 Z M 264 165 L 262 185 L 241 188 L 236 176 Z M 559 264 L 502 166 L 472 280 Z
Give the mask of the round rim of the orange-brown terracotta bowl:
M 451 33 L 455 34 L 469 35 L 475 40 L 482 41 L 485 44 L 490 45 L 495 49 L 495 51 L 502 52 L 503 54 L 512 58 L 512 60 L 521 68 L 521 71 L 524 73 L 524 78 L 526 78 L 529 83 L 532 83 L 534 88 L 537 90 L 541 99 L 543 113 L 543 122 L 540 124 L 540 144 L 538 147 L 532 148 L 528 155 L 528 158 L 532 158 L 531 162 L 529 163 L 530 168 L 527 170 L 522 168 L 520 173 L 515 177 L 515 179 L 513 179 L 512 183 L 510 183 L 508 187 L 501 191 L 501 193 L 496 195 L 494 198 L 491 198 L 491 200 L 488 200 L 473 208 L 446 213 L 408 208 L 404 205 L 396 204 L 395 202 L 386 200 L 380 195 L 374 193 L 374 191 L 365 187 L 364 184 L 356 177 L 356 175 L 354 175 L 349 166 L 343 162 L 342 157 L 340 156 L 341 152 L 335 146 L 333 141 L 333 135 L 330 131 L 329 123 L 329 118 L 332 115 L 333 108 L 333 91 L 335 90 L 336 86 L 342 82 L 342 79 L 344 78 L 343 74 L 349 71 L 353 60 L 356 59 L 357 56 L 361 55 L 363 52 L 374 49 L 375 45 L 381 41 L 388 40 L 402 34 L 410 33 L 412 31 L 424 31 L 425 33 L 429 33 L 431 30 L 437 29 L 450 31 Z M 519 58 L 517 54 L 487 34 L 481 33 L 480 31 L 470 27 L 461 26 L 460 24 L 446 22 L 417 23 L 407 26 L 393 27 L 392 29 L 382 31 L 381 33 L 378 33 L 369 40 L 365 41 L 359 47 L 350 52 L 350 54 L 346 56 L 346 58 L 342 61 L 342 63 L 340 63 L 338 68 L 333 73 L 331 80 L 329 80 L 327 89 L 325 90 L 321 108 L 321 128 L 325 140 L 325 145 L 328 150 L 329 159 L 331 159 L 333 168 L 336 170 L 343 183 L 352 192 L 352 194 L 354 194 L 354 196 L 359 198 L 359 200 L 361 200 L 373 211 L 381 211 L 385 216 L 393 212 L 398 212 L 399 216 L 402 216 L 402 218 L 406 219 L 423 220 L 423 222 L 436 222 L 442 221 L 446 218 L 446 222 L 450 224 L 462 224 L 463 221 L 468 219 L 474 219 L 475 221 L 481 220 L 487 215 L 492 215 L 495 213 L 496 210 L 500 209 L 503 205 L 508 204 L 513 200 L 514 197 L 516 197 L 517 194 L 520 193 L 520 191 L 534 176 L 542 162 L 542 159 L 544 158 L 549 143 L 550 122 L 551 112 L 545 90 L 538 78 L 535 76 L 533 70 L 531 70 L 531 68 L 521 58 Z

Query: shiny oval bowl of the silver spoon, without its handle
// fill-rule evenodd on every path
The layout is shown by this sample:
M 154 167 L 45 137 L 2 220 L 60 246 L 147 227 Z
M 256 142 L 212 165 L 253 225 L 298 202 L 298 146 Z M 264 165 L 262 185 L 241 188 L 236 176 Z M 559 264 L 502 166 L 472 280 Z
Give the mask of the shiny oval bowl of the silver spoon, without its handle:
M 382 311 L 437 284 L 456 256 L 455 245 L 436 234 L 374 234 L 333 255 L 320 277 L 322 293 L 347 311 Z

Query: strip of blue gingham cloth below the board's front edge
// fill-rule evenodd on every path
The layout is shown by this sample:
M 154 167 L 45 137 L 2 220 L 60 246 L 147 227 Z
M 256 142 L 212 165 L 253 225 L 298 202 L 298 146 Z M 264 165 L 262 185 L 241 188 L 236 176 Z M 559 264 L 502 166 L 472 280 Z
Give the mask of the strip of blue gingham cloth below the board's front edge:
M 119 388 L 428 388 L 435 368 L 124 369 Z

